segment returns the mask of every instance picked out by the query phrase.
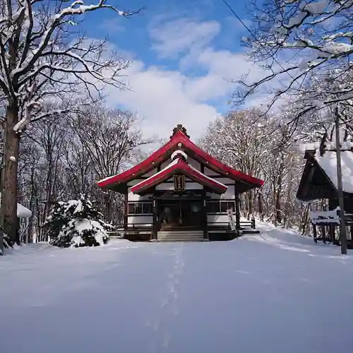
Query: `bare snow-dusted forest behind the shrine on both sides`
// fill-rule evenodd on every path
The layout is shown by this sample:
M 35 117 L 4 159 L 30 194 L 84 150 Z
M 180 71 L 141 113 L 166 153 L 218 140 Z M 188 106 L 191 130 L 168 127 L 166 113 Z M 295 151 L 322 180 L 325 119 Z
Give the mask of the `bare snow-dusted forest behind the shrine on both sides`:
M 53 203 L 82 194 L 90 196 L 107 221 L 122 222 L 123 196 L 102 191 L 95 182 L 140 162 L 151 146 L 160 145 L 157 136 L 143 136 L 139 122 L 131 112 L 100 104 L 83 114 L 37 121 L 28 128 L 20 144 L 18 202 L 32 211 L 32 217 L 21 220 L 21 241 L 46 241 L 42 225 Z M 305 130 L 300 131 L 302 141 Z M 308 234 L 309 210 L 326 205 L 297 200 L 304 154 L 297 151 L 299 139 L 287 139 L 287 133 L 287 124 L 279 124 L 277 116 L 246 109 L 210 123 L 196 142 L 221 162 L 265 180 L 261 189 L 242 195 L 244 217 L 255 215 Z M 316 138 L 316 133 L 308 133 L 306 140 Z

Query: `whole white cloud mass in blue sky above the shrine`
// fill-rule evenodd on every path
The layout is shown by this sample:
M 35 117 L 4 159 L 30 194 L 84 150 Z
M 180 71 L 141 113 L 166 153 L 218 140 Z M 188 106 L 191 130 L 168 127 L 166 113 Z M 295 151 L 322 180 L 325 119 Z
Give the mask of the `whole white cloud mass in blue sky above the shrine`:
M 180 29 L 178 32 L 176 26 Z M 180 59 L 181 71 L 148 67 L 142 61 L 135 61 L 124 72 L 131 91 L 109 88 L 108 102 L 142 116 L 141 128 L 146 135 L 157 133 L 168 138 L 174 126 L 183 124 L 191 138 L 201 137 L 209 122 L 218 116 L 209 101 L 228 100 L 235 89 L 234 83 L 226 78 L 239 77 L 249 71 L 251 78 L 262 76 L 260 68 L 246 61 L 242 53 L 216 51 L 210 47 L 210 41 L 219 30 L 220 25 L 214 21 L 196 23 L 194 20 L 167 23 L 160 32 L 155 28 L 152 35 L 158 39 L 155 47 L 160 54 L 184 54 Z M 202 67 L 205 74 L 186 75 L 183 73 L 186 66 Z

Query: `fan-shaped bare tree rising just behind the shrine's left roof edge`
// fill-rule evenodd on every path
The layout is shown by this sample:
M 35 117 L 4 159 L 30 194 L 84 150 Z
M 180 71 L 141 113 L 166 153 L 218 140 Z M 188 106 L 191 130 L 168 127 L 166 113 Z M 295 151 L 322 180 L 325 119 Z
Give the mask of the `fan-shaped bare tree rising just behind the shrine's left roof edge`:
M 102 179 L 119 174 L 133 162 L 138 162 L 145 153 L 142 148 L 155 143 L 157 138 L 143 138 L 138 127 L 140 119 L 131 112 L 105 107 L 85 109 L 72 119 L 72 128 L 90 160 L 95 177 Z M 92 181 L 91 181 L 92 182 Z M 104 208 L 109 221 L 116 219 L 113 214 L 121 212 L 113 206 L 121 199 L 116 193 L 103 192 Z M 116 200 L 116 198 L 119 200 Z

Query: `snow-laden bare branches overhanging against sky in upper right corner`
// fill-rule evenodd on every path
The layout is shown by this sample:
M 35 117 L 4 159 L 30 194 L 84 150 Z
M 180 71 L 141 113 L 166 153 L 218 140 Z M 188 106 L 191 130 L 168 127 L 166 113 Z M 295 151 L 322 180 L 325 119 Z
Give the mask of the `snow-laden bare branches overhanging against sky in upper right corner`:
M 235 104 L 271 85 L 275 88 L 270 91 L 268 109 L 279 98 L 300 102 L 290 121 L 293 129 L 301 116 L 337 102 L 352 105 L 351 0 L 252 0 L 249 11 L 252 35 L 243 38 L 243 44 L 249 47 L 249 59 L 265 68 L 265 76 L 255 82 L 246 77 L 239 80 Z M 326 80 L 328 74 L 330 80 Z M 312 90 L 313 80 L 326 80 L 326 84 Z M 338 80 L 342 84 L 332 84 Z

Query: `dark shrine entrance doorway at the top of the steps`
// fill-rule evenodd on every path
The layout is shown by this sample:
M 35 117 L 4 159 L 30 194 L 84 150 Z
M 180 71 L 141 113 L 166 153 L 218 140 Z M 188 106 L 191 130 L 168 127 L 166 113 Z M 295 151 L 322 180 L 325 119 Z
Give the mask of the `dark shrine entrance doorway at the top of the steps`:
M 158 201 L 160 229 L 202 227 L 201 200 Z

